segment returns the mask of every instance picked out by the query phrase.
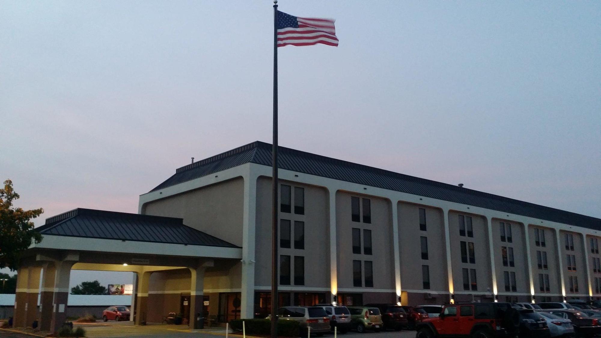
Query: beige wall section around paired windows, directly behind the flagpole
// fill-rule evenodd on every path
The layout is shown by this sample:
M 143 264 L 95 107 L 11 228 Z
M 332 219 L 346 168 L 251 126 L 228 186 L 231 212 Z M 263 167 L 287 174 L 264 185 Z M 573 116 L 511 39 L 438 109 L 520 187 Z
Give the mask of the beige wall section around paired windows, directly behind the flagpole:
M 305 284 L 300 287 L 329 287 L 329 206 L 325 188 L 279 181 L 290 185 L 290 213 L 279 212 L 279 220 L 290 220 L 291 248 L 279 248 L 278 255 L 290 257 L 290 286 L 294 286 L 294 257 L 305 257 Z M 272 185 L 270 177 L 257 179 L 257 214 L 255 229 L 255 285 L 271 285 Z M 294 214 L 294 186 L 305 189 L 305 214 Z M 281 196 L 278 197 L 281 198 Z M 279 205 L 279 203 L 278 203 Z M 305 248 L 294 249 L 294 221 L 305 223 Z

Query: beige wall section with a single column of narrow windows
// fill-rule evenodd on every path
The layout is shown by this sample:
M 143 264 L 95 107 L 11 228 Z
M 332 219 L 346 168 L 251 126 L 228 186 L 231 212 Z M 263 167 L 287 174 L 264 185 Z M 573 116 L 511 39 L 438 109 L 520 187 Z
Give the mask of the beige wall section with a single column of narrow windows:
M 419 230 L 419 209 L 426 210 L 426 231 Z M 401 287 L 423 289 L 421 266 L 430 269 L 430 290 L 448 291 L 447 253 L 444 214 L 441 209 L 411 203 L 398 203 L 398 239 L 401 262 Z M 421 259 L 420 237 L 428 238 L 428 259 Z M 424 302 L 424 295 L 419 295 Z

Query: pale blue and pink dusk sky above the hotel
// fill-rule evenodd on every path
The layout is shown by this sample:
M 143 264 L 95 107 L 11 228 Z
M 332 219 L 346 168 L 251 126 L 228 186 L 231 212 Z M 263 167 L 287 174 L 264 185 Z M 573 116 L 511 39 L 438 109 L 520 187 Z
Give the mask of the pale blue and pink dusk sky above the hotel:
M 37 226 L 137 212 L 192 156 L 270 143 L 272 5 L 1 1 L 0 178 L 17 206 L 43 207 Z M 601 2 L 279 10 L 335 18 L 340 40 L 279 48 L 281 146 L 601 217 Z

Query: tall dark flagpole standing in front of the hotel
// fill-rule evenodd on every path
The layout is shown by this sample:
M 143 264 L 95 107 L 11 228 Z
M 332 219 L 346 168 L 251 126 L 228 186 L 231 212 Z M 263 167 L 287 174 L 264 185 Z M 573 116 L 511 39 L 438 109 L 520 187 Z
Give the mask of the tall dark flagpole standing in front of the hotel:
M 278 323 L 278 0 L 273 0 L 273 150 L 271 230 L 271 337 Z

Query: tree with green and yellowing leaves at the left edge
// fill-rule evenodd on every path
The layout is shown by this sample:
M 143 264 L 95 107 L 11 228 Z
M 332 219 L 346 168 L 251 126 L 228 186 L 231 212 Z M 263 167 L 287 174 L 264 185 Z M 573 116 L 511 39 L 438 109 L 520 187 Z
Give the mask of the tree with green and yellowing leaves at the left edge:
M 23 210 L 13 207 L 13 201 L 19 199 L 14 192 L 13 181 L 5 180 L 4 189 L 0 189 L 0 269 L 17 269 L 19 257 L 32 242 L 41 242 L 41 235 L 34 229 L 32 219 L 40 216 L 44 209 Z

